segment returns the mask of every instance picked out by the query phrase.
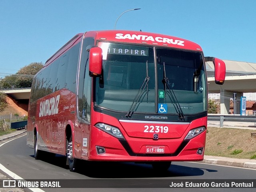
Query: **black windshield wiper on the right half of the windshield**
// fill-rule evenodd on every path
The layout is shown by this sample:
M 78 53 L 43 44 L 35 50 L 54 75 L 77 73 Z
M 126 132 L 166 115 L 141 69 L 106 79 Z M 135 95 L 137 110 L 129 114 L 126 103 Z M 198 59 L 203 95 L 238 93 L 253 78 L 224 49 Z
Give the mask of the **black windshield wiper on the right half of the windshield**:
M 168 96 L 170 98 L 170 100 L 172 100 L 172 103 L 174 105 L 174 108 L 177 112 L 177 114 L 179 115 L 179 118 L 181 120 L 185 119 L 185 116 L 182 112 L 182 109 L 180 107 L 180 104 L 178 102 L 178 99 L 176 98 L 176 95 L 172 89 L 172 86 L 171 88 L 169 87 L 170 86 L 170 82 L 169 82 L 169 79 L 168 77 L 166 77 L 166 70 L 165 70 L 165 64 L 164 64 L 164 78 L 162 79 L 162 83 L 164 84 L 164 94 L 165 94 L 165 98 L 166 98 L 166 87 L 168 89 Z

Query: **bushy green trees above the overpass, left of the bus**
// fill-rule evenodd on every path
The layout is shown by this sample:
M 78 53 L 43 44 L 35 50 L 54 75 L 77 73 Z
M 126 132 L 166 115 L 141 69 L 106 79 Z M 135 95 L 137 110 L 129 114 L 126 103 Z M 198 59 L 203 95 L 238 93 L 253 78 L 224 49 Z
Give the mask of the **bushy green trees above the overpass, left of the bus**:
M 42 69 L 43 66 L 42 62 L 33 62 L 20 68 L 16 74 L 0 79 L 0 88 L 11 89 L 31 87 L 33 76 Z

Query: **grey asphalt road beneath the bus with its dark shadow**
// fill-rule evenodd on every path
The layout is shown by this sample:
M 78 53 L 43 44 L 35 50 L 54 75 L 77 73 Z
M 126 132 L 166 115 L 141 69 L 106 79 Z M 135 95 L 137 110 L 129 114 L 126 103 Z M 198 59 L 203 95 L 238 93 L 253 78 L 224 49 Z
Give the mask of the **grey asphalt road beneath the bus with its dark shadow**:
M 255 179 L 256 170 L 245 168 L 234 168 L 226 166 L 216 166 L 211 164 L 202 164 L 194 162 L 173 162 L 167 172 L 154 172 L 150 165 L 134 163 L 83 163 L 78 173 L 70 172 L 66 167 L 65 157 L 56 156 L 52 160 L 35 160 L 34 150 L 26 146 L 26 136 L 13 140 L 0 147 L 0 164 L 8 170 L 14 172 L 24 179 L 97 179 L 99 186 L 100 179 L 111 179 L 110 182 L 116 182 L 116 179 L 178 179 L 180 182 L 188 179 L 198 180 L 236 180 L 236 179 Z M 94 180 L 91 180 L 94 181 Z M 126 181 L 126 180 L 125 180 Z M 255 188 L 75 188 L 72 191 L 83 192 L 169 192 L 169 191 L 216 191 L 216 192 L 234 192 L 234 191 L 255 191 Z M 120 180 L 118 180 L 120 182 Z M 256 182 L 254 183 L 256 184 Z M 45 192 L 64 192 L 70 191 L 68 188 L 43 188 Z

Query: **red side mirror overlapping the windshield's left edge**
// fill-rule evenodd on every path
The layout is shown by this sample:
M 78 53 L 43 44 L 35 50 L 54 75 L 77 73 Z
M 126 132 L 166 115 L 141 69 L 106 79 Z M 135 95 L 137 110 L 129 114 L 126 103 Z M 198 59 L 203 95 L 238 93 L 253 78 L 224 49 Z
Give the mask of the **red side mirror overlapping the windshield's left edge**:
M 102 49 L 99 47 L 90 48 L 89 52 L 89 75 L 100 76 L 102 71 Z

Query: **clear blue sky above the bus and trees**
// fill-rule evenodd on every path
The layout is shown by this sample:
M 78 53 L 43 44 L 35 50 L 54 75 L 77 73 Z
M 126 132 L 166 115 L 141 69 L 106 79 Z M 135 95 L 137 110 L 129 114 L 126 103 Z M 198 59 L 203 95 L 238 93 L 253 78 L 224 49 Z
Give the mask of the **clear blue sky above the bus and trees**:
M 45 63 L 75 34 L 135 30 L 184 38 L 204 56 L 256 63 L 255 0 L 0 0 L 0 78 Z

